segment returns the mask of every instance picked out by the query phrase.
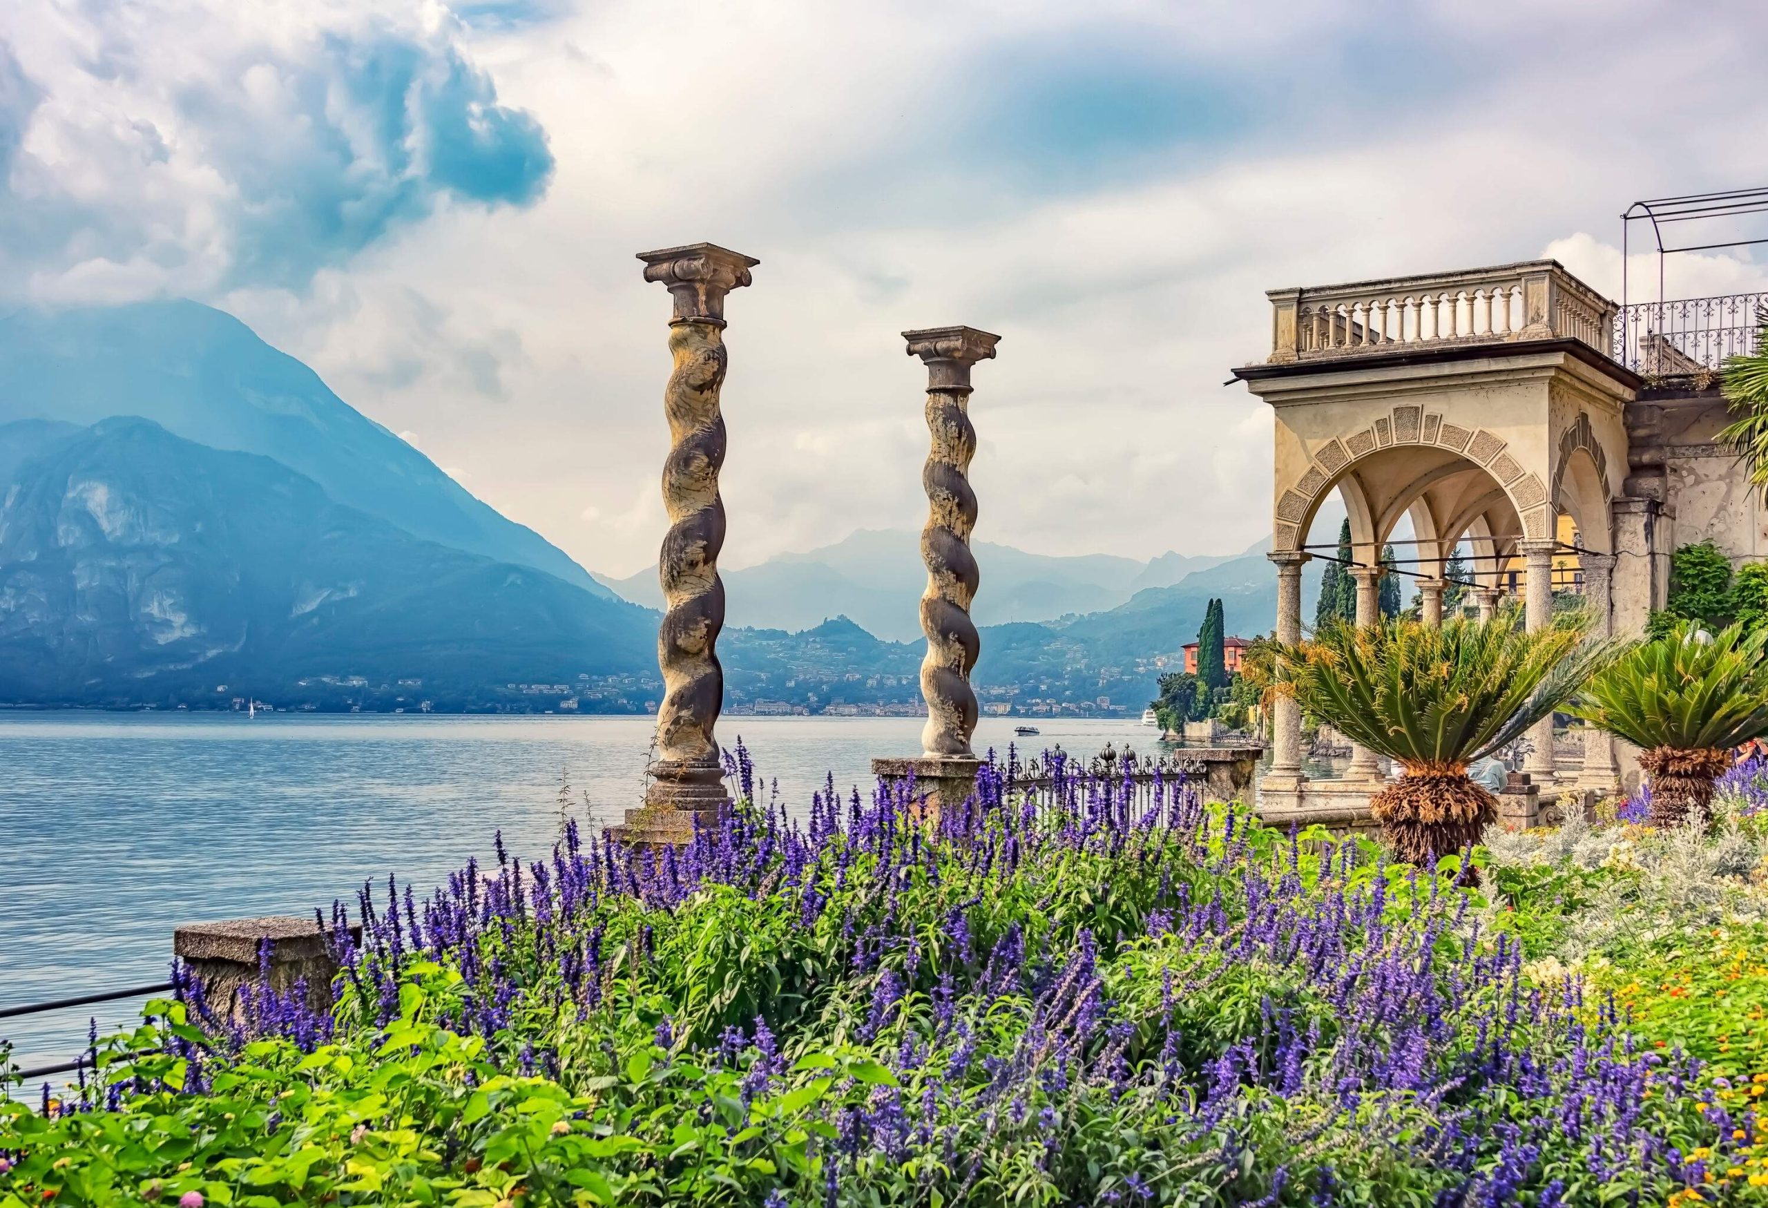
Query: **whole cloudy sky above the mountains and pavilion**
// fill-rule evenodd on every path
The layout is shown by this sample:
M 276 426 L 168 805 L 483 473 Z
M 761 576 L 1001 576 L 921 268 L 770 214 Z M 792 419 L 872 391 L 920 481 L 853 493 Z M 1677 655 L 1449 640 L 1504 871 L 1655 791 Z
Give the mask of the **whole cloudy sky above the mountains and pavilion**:
M 629 575 L 668 442 L 635 253 L 713 241 L 760 260 L 725 566 L 919 527 L 898 333 L 948 324 L 1002 336 L 979 539 L 1222 554 L 1269 531 L 1269 414 L 1223 386 L 1264 290 L 1551 255 L 1618 295 L 1628 202 L 1768 184 L 1763 34 L 1727 2 L 12 0 L 0 302 L 228 310 Z

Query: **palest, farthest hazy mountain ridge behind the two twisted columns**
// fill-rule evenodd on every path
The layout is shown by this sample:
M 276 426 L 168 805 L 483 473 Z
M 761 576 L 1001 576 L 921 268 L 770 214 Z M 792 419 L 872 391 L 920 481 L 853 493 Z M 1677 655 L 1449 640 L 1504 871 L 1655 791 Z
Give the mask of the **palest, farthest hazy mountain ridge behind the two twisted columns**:
M 1181 554 L 1163 554 L 1153 562 L 1105 554 L 1057 557 L 992 541 L 976 541 L 972 548 L 981 564 L 972 617 L 985 626 L 1103 612 L 1139 589 L 1163 587 L 1229 561 L 1229 555 Z M 926 570 L 921 534 L 909 529 L 861 529 L 834 545 L 721 571 L 721 578 L 732 624 L 806 630 L 840 615 L 884 640 L 921 637 Z M 633 603 L 663 607 L 654 570 L 603 582 Z

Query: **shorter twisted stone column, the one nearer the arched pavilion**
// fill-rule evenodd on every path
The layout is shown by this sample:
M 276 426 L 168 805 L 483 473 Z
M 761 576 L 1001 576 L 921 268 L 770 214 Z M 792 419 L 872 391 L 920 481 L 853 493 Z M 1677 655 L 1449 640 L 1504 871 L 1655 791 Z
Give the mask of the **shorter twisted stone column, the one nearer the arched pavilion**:
M 937 815 L 942 805 L 956 807 L 974 792 L 979 766 L 971 750 L 976 732 L 971 670 L 981 637 L 971 621 L 978 570 L 971 554 L 976 492 L 971 490 L 969 469 L 976 455 L 976 428 L 969 417 L 969 398 L 971 366 L 992 359 L 1001 336 L 974 327 L 902 334 L 909 341 L 909 356 L 926 363 L 930 446 L 921 467 L 921 486 L 926 490 L 926 525 L 921 529 L 921 561 L 926 564 L 921 699 L 926 700 L 926 725 L 921 729 L 919 759 L 873 759 L 872 771 L 886 782 L 912 776 L 916 799 Z

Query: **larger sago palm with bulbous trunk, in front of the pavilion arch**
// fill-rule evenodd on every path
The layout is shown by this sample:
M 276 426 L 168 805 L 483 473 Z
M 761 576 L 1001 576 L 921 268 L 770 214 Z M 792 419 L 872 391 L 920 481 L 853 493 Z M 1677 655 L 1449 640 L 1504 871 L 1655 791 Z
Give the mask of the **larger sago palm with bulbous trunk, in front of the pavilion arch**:
M 1284 647 L 1278 676 L 1305 711 L 1400 764 L 1370 814 L 1402 860 L 1432 865 L 1497 819 L 1467 764 L 1551 715 L 1612 649 L 1584 640 L 1581 617 L 1535 633 L 1515 614 L 1441 628 L 1333 624 Z

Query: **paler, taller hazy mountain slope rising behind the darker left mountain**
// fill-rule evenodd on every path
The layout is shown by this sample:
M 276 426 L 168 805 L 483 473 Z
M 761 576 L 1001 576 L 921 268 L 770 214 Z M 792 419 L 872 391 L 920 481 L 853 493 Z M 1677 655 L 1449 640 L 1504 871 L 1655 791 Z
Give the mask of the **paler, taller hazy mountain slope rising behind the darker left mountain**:
M 141 416 L 196 444 L 274 458 L 334 502 L 415 538 L 613 594 L 232 315 L 170 301 L 0 318 L 0 423 L 92 424 L 111 416 Z

